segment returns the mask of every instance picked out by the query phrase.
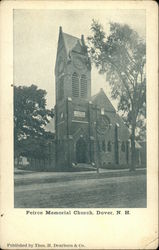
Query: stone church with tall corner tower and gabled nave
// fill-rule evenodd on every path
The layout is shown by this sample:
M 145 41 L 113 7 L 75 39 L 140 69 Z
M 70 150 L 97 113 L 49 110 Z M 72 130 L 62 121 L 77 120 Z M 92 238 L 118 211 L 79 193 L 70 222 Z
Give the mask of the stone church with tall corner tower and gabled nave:
M 128 164 L 128 128 L 103 89 L 91 96 L 91 62 L 84 37 L 66 34 L 61 27 L 55 80 L 56 168 Z

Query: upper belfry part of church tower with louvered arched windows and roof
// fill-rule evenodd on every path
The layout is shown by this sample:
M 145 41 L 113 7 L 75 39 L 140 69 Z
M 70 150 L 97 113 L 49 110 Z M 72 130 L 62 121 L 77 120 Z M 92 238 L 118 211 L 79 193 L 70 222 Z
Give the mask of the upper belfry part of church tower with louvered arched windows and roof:
M 91 96 L 91 63 L 84 42 L 59 29 L 55 65 L 56 104 L 71 97 L 89 100 Z

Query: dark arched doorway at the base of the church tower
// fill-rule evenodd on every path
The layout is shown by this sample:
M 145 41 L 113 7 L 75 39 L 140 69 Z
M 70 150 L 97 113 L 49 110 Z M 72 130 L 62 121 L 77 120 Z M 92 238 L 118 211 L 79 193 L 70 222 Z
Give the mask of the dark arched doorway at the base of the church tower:
M 86 142 L 83 137 L 80 137 L 76 143 L 76 161 L 78 163 L 86 163 Z

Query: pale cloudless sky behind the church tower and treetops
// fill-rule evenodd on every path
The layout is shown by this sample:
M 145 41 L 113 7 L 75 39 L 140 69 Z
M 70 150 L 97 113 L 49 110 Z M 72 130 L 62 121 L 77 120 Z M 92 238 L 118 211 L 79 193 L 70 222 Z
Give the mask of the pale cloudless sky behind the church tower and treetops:
M 128 24 L 146 37 L 144 10 L 14 10 L 13 67 L 14 85 L 37 85 L 47 91 L 47 107 L 55 105 L 54 67 L 59 26 L 63 32 L 86 38 L 91 35 L 92 19 L 98 20 L 106 33 L 109 23 Z M 92 67 L 92 95 L 103 88 L 109 99 L 110 88 L 104 75 Z M 116 106 L 116 103 L 113 103 Z

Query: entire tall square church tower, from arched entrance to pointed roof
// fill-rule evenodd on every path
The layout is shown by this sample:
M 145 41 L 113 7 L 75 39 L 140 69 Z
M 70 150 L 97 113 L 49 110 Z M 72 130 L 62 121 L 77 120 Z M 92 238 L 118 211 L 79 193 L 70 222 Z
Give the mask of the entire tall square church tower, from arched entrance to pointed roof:
M 56 165 L 92 161 L 90 138 L 91 63 L 83 35 L 76 38 L 59 29 L 55 64 Z M 83 152 L 82 150 L 85 150 Z

